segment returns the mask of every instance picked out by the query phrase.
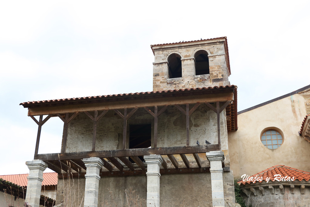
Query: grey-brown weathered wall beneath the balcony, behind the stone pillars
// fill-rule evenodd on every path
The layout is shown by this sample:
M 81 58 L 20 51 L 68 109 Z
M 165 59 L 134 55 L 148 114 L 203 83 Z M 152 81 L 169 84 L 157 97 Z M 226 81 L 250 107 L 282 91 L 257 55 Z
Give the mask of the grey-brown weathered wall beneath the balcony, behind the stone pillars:
M 225 201 L 233 202 L 235 198 L 232 173 L 224 172 L 223 178 Z M 70 185 L 68 180 L 63 181 L 60 179 L 58 181 L 57 205 L 64 201 L 67 204 L 75 204 L 75 202 L 81 204 L 81 197 L 85 189 L 85 178 L 80 178 L 79 180 L 79 184 L 78 179 L 74 180 L 74 186 L 72 180 Z M 71 187 L 68 189 L 69 186 Z M 73 189 L 75 189 L 75 192 Z M 135 191 L 135 194 L 130 193 L 130 189 Z M 127 202 L 125 190 L 128 197 L 133 195 L 139 196 L 143 206 L 146 206 L 146 175 L 100 178 L 98 206 L 116 206 L 114 202 L 117 206 L 124 206 Z M 78 195 L 80 195 L 79 200 Z M 211 206 L 210 173 L 162 175 L 160 178 L 160 205 L 162 207 Z

